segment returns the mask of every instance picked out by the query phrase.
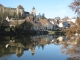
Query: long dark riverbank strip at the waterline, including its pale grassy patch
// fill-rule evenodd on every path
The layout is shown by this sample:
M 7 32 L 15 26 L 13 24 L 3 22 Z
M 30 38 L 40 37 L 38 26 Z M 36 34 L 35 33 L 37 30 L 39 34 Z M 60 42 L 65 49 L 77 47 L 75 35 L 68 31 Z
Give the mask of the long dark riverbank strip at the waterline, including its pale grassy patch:
M 13 36 L 13 35 L 47 35 L 47 34 L 55 34 L 55 35 L 64 35 L 61 31 L 34 31 L 34 30 L 27 30 L 27 31 L 3 31 L 0 32 L 0 36 Z

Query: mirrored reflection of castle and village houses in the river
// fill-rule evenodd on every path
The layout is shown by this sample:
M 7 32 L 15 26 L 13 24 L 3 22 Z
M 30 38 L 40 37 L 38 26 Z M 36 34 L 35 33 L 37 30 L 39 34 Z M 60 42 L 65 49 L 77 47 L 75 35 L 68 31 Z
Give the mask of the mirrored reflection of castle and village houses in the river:
M 23 37 L 22 39 L 16 39 L 13 38 L 12 40 L 8 39 L 8 41 L 6 42 L 6 44 L 9 44 L 9 46 L 6 48 L 6 50 L 8 51 L 8 54 L 16 54 L 16 56 L 20 57 L 23 55 L 23 52 L 25 50 L 29 50 L 30 53 L 32 55 L 35 54 L 35 47 L 38 46 L 38 48 L 42 48 L 44 49 L 45 46 L 47 44 L 57 44 L 59 45 L 59 43 L 63 40 L 61 40 L 59 43 L 57 43 L 57 38 L 59 37 L 59 39 L 62 39 L 62 36 L 56 36 L 56 35 L 40 35 L 40 36 L 32 36 L 32 37 Z M 30 39 L 30 40 L 29 40 Z M 4 40 L 4 39 L 3 39 Z M 3 41 L 1 40 L 1 41 Z M 6 45 L 5 43 L 3 43 L 4 45 Z M 0 45 L 1 46 L 1 45 Z M 3 52 L 6 53 L 5 48 L 2 46 L 3 48 Z M 0 53 L 2 53 L 2 50 L 0 50 Z M 4 54 L 5 55 L 5 54 Z M 2 56 L 4 56 L 2 55 Z M 7 55 L 7 54 L 6 54 Z

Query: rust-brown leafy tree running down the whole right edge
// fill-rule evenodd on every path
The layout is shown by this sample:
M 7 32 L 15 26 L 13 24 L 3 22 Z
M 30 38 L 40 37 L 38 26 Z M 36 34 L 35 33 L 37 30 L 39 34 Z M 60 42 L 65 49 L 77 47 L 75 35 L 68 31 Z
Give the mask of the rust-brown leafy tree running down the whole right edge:
M 73 0 L 69 7 L 77 13 L 77 19 L 75 24 L 70 28 L 64 30 L 67 37 L 74 38 L 73 40 L 68 40 L 67 48 L 63 47 L 63 53 L 70 55 L 71 60 L 80 60 L 80 0 Z M 65 44 L 63 44 L 65 46 Z

